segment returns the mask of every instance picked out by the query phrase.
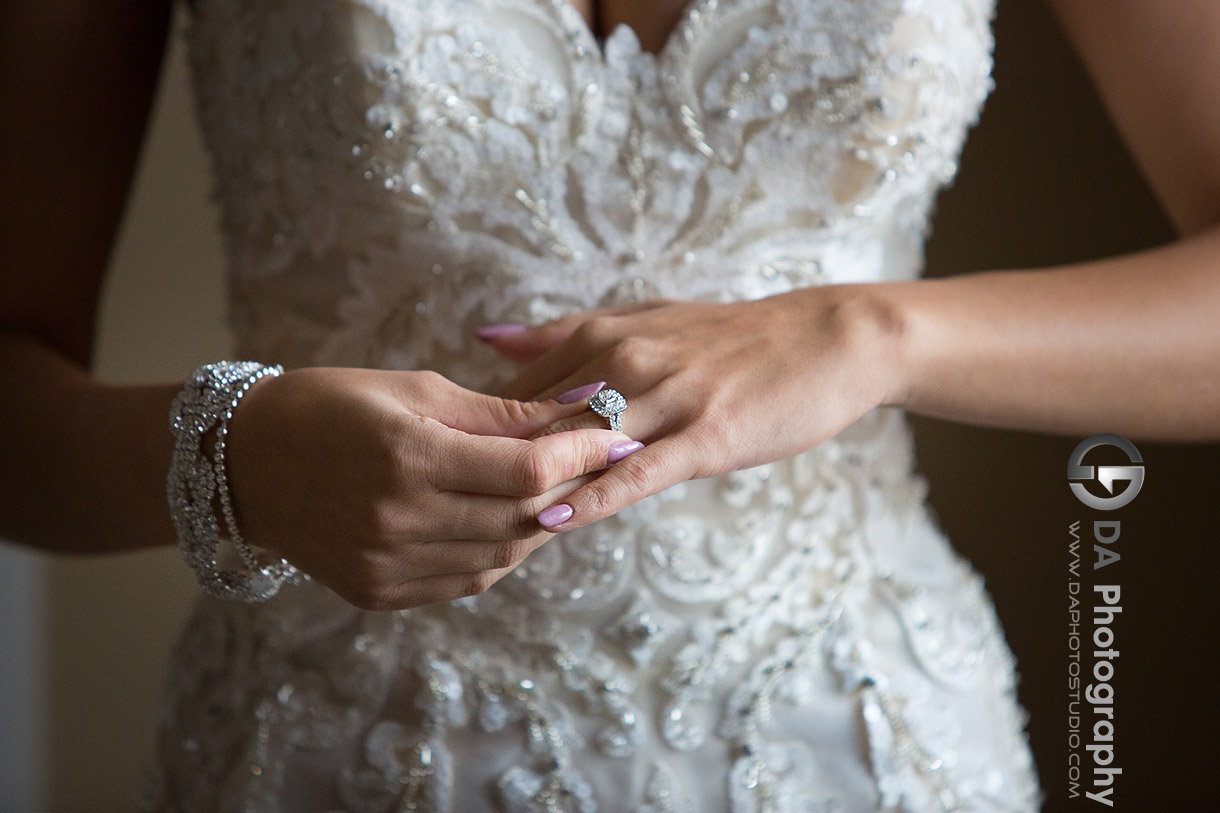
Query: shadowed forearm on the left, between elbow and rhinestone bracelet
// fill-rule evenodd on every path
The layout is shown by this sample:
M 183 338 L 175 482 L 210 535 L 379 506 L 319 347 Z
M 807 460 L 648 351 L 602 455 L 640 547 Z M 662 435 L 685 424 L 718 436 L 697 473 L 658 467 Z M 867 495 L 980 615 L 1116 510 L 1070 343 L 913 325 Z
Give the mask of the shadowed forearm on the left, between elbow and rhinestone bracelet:
M 0 537 L 101 553 L 174 540 L 168 409 L 182 385 L 117 387 L 0 333 Z

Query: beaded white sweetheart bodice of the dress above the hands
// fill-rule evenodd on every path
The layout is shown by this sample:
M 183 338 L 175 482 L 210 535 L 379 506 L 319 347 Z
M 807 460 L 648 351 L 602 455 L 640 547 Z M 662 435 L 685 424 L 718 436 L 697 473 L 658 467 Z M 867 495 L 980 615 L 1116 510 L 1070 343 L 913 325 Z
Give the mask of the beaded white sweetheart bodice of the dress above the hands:
M 697 0 L 654 56 L 564 0 L 200 0 L 243 349 L 479 387 L 479 325 L 914 276 L 988 4 Z

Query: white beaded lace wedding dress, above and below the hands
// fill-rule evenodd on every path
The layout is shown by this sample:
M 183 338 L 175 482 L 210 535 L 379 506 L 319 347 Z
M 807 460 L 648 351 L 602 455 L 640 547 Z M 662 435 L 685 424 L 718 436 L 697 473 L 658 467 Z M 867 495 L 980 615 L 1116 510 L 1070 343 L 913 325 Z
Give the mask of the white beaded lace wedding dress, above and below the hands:
M 694 0 L 654 56 L 564 0 L 199 0 L 240 355 L 489 391 L 482 325 L 915 277 L 992 1 Z M 1011 654 L 925 494 L 878 408 L 473 598 L 201 599 L 145 807 L 1035 809 Z

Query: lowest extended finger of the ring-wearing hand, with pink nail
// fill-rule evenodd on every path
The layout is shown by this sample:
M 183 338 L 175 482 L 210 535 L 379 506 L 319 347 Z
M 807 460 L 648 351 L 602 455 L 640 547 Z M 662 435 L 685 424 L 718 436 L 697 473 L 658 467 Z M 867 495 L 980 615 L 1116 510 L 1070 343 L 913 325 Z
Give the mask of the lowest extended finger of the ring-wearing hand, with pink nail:
M 540 511 L 538 521 L 555 533 L 583 527 L 689 480 L 697 471 L 686 443 L 673 437 L 661 438 Z

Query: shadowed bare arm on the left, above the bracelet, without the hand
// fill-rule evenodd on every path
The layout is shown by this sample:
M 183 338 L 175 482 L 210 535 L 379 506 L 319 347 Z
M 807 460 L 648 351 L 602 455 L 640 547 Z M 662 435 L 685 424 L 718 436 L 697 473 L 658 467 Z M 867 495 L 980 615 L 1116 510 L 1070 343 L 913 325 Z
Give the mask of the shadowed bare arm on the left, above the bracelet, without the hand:
M 176 388 L 88 374 L 168 16 L 139 0 L 0 6 L 0 536 L 78 551 L 173 540 Z

